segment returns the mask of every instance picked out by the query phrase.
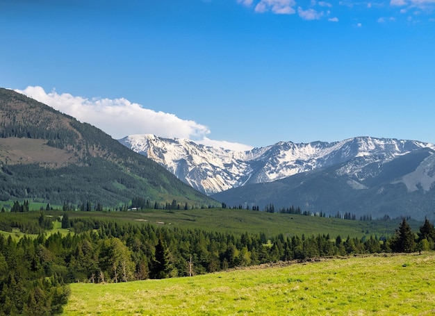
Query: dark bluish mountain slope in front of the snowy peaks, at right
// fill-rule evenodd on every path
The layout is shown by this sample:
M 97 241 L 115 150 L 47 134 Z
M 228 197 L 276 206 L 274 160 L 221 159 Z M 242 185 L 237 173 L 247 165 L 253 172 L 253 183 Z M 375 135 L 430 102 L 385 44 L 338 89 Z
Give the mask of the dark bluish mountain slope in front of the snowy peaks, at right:
M 435 151 L 425 147 L 397 154 L 357 156 L 268 183 L 212 194 L 228 206 L 275 209 L 299 206 L 327 215 L 410 216 L 435 219 Z

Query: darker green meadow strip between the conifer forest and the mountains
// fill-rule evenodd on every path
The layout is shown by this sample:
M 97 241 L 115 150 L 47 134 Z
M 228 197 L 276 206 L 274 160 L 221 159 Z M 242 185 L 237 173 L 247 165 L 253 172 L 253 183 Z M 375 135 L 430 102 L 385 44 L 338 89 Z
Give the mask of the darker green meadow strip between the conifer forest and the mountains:
M 280 233 L 285 236 L 301 236 L 302 234 L 329 234 L 352 238 L 364 235 L 393 235 L 402 219 L 390 221 L 352 221 L 328 217 L 290 215 L 280 213 L 264 213 L 254 210 L 200 209 L 200 210 L 146 210 L 136 212 L 71 212 L 70 219 L 75 217 L 95 217 L 112 219 L 118 223 L 136 223 L 165 225 L 179 228 L 202 229 L 221 233 L 265 233 L 274 237 Z M 418 231 L 422 223 L 410 221 L 413 231 Z

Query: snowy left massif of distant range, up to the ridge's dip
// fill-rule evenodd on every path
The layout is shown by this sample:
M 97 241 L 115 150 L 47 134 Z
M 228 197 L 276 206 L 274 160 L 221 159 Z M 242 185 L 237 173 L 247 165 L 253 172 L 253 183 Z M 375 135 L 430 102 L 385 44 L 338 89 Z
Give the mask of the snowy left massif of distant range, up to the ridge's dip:
M 252 174 L 249 163 L 245 162 L 245 153 L 149 134 L 130 135 L 120 142 L 206 194 L 243 185 L 249 178 L 247 175 Z

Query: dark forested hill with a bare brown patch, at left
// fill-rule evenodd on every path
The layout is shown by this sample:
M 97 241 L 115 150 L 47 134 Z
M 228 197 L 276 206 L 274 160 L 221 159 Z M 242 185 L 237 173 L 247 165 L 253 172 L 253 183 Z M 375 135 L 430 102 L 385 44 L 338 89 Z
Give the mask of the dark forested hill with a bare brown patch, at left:
M 95 126 L 0 88 L 0 200 L 216 203 Z

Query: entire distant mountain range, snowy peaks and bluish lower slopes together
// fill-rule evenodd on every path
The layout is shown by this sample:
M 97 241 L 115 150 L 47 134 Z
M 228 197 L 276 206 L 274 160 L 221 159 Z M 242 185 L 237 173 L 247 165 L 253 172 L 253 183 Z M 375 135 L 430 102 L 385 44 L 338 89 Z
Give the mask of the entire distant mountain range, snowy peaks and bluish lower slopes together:
M 230 206 L 293 204 L 373 217 L 433 217 L 435 211 L 435 146 L 425 142 L 358 137 L 243 152 L 154 135 L 120 142 Z

